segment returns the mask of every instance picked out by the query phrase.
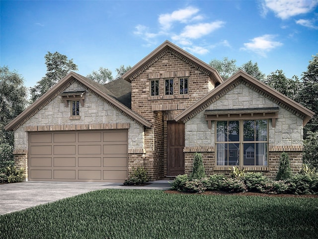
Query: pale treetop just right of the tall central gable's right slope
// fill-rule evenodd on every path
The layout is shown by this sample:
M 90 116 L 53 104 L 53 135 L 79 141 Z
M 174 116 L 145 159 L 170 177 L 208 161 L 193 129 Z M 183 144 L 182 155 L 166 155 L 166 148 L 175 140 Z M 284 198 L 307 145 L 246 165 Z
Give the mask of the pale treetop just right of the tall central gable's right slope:
M 224 57 L 223 60 L 213 59 L 209 65 L 220 73 L 223 80 L 226 80 L 239 70 L 236 62 L 234 59 L 229 60 L 228 57 Z

